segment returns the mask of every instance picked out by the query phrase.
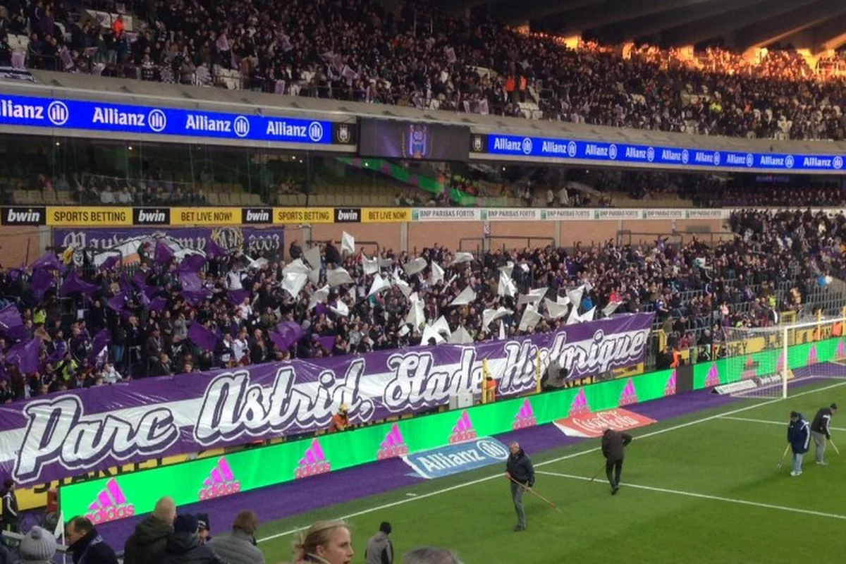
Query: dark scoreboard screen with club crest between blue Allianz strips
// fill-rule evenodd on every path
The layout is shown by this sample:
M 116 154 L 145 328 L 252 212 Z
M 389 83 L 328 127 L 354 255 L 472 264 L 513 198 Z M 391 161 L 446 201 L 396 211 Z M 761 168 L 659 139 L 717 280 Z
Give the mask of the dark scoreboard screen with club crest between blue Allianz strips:
M 363 119 L 359 154 L 395 159 L 466 161 L 470 128 L 437 123 Z

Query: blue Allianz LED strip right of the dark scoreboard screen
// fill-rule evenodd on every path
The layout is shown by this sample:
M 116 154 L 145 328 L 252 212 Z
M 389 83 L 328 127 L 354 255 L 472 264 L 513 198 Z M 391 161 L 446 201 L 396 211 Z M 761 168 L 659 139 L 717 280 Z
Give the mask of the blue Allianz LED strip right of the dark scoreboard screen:
M 472 134 L 470 151 L 476 155 L 555 158 L 608 165 L 640 164 L 650 167 L 733 168 L 758 171 L 838 172 L 840 154 L 787 154 L 712 151 L 696 147 L 662 147 L 625 143 L 554 139 L 508 134 Z

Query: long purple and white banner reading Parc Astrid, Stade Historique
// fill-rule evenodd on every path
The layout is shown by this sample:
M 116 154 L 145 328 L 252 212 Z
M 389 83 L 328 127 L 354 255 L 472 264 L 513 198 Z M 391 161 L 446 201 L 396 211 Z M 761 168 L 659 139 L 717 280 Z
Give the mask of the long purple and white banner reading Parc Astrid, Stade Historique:
M 327 428 L 342 403 L 354 423 L 478 394 L 482 359 L 501 396 L 536 389 L 555 361 L 572 378 L 643 362 L 652 314 L 514 340 L 294 360 L 135 381 L 0 406 L 0 468 L 18 485 Z

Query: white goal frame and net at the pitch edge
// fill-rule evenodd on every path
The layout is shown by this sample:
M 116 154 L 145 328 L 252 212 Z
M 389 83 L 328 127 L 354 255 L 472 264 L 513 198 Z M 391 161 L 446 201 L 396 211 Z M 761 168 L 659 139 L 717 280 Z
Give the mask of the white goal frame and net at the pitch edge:
M 723 393 L 741 397 L 790 397 L 802 386 L 846 379 L 846 318 L 761 328 L 723 328 Z

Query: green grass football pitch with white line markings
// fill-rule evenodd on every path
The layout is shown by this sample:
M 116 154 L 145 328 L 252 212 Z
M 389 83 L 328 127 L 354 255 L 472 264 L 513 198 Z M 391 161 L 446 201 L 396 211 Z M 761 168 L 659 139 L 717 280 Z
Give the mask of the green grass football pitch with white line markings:
M 829 465 L 817 466 L 812 442 L 802 476 L 789 475 L 789 455 L 781 470 L 777 463 L 787 446 L 789 411 L 811 419 L 823 405 L 846 404 L 846 382 L 797 392 L 785 401 L 736 402 L 634 430 L 617 496 L 604 473 L 590 481 L 602 466 L 598 439 L 532 454 L 536 490 L 561 512 L 526 495 L 522 533 L 513 530 L 508 483 L 491 466 L 265 523 L 259 546 L 268 562 L 289 561 L 294 529 L 346 517 L 354 562 L 364 561 L 365 542 L 381 521 L 392 523 L 398 554 L 444 546 L 466 564 L 842 561 L 846 416 L 832 420 L 843 457 L 829 445 Z

